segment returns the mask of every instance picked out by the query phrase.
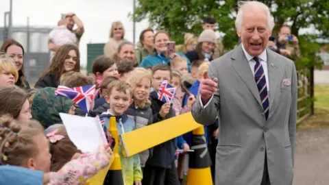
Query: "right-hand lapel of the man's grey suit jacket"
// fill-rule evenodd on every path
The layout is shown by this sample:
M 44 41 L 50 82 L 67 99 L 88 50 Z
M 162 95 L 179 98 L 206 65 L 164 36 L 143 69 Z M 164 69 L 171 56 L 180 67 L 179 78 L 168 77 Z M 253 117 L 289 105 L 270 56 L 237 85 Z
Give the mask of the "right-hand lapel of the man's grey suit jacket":
M 274 97 L 276 97 L 276 91 L 280 82 L 280 68 L 276 62 L 278 56 L 267 50 L 267 70 L 269 73 L 269 110 L 273 106 Z

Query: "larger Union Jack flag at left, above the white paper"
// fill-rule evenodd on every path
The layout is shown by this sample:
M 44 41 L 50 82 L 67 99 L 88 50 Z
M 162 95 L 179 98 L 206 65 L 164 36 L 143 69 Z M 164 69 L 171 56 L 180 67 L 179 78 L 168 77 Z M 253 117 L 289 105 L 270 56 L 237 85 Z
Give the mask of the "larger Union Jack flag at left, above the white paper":
M 66 86 L 58 86 L 55 94 L 58 97 L 69 97 L 74 103 L 88 113 L 90 110 L 91 102 L 94 99 L 95 85 L 80 86 L 75 88 L 68 88 Z

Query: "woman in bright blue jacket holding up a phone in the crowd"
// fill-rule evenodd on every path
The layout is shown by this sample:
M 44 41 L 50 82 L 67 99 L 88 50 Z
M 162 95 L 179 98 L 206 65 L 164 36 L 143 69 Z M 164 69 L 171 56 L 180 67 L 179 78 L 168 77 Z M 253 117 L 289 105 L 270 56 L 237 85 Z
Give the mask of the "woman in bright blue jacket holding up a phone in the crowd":
M 175 42 L 170 41 L 169 34 L 165 31 L 158 31 L 154 36 L 155 54 L 144 58 L 140 64 L 141 67 L 151 67 L 157 64 L 168 64 L 175 56 L 181 56 L 186 59 L 188 71 L 191 71 L 191 62 L 183 53 L 175 52 Z

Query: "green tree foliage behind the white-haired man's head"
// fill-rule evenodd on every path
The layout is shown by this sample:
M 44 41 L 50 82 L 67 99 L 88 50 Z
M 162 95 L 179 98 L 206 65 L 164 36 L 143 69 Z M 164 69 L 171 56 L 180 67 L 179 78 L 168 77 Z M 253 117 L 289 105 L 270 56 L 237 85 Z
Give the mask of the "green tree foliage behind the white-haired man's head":
M 263 0 L 269 6 L 276 22 L 273 33 L 280 26 L 288 24 L 295 36 L 300 29 L 314 27 L 317 33 L 312 36 L 304 34 L 300 37 L 300 47 L 304 59 L 303 64 L 313 63 L 318 58 L 315 53 L 320 46 L 316 39 L 329 38 L 329 1 L 328 0 Z M 238 40 L 234 26 L 236 16 L 236 0 L 138 0 L 134 13 L 136 21 L 148 18 L 156 29 L 166 29 L 172 40 L 184 42 L 184 33 L 199 35 L 202 32 L 202 18 L 214 16 L 217 20 L 217 31 L 223 32 L 223 44 L 232 49 Z

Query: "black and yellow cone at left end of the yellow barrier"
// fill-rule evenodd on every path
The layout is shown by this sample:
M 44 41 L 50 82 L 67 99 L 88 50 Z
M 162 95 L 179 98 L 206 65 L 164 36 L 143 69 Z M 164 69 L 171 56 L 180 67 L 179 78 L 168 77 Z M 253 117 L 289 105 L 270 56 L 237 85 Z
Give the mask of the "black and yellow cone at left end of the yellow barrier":
M 106 174 L 104 185 L 123 185 L 123 176 L 121 171 L 121 160 L 119 156 L 119 132 L 117 129 L 117 121 L 115 117 L 110 118 L 110 127 L 108 130 L 111 133 L 111 136 L 114 138 L 116 144 L 114 145 L 114 160 L 108 173 Z

